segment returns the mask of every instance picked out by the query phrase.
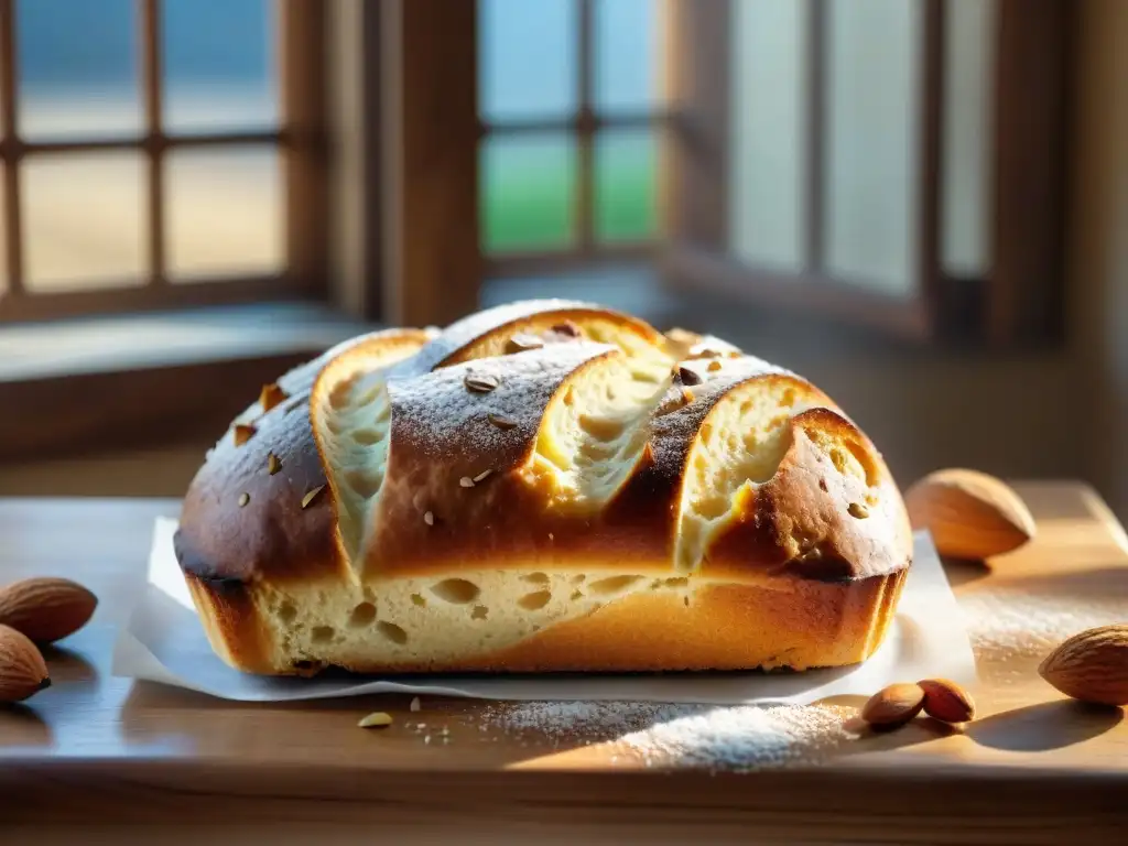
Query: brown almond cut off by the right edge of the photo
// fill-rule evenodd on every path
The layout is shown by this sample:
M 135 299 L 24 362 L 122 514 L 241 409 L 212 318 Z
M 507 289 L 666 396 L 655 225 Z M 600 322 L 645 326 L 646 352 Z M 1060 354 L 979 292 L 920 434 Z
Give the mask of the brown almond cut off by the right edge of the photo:
M 1038 672 L 1074 699 L 1128 705 L 1128 624 L 1075 634 L 1046 656 Z

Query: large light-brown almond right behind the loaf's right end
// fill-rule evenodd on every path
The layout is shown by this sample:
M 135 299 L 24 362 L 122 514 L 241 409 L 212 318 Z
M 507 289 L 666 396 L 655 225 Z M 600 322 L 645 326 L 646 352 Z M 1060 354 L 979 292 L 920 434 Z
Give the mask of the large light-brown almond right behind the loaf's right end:
M 985 473 L 937 470 L 911 485 L 905 505 L 914 529 L 927 529 L 936 550 L 954 558 L 988 558 L 1034 537 L 1034 519 L 1006 483 Z

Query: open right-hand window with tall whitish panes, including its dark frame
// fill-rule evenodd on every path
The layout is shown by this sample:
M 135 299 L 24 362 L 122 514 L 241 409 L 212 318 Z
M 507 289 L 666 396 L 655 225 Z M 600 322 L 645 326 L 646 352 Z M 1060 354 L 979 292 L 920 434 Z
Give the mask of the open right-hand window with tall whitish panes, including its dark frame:
M 1068 0 L 673 15 L 677 284 L 918 338 L 1057 335 Z

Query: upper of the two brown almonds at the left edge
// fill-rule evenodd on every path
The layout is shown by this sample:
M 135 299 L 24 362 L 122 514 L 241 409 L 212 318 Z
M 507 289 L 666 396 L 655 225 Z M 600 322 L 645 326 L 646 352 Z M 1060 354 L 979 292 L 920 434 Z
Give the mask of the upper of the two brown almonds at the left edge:
M 94 593 L 69 579 L 25 579 L 0 590 L 0 624 L 54 643 L 85 626 L 97 606 Z

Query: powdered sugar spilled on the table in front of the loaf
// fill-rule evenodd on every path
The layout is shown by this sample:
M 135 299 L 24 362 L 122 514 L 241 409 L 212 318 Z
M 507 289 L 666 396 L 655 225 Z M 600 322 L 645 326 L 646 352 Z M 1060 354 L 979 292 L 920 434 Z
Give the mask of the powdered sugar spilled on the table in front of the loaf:
M 569 739 L 614 743 L 646 766 L 776 767 L 821 759 L 852 739 L 846 711 L 826 706 L 529 702 L 493 705 L 484 716 L 557 748 Z

